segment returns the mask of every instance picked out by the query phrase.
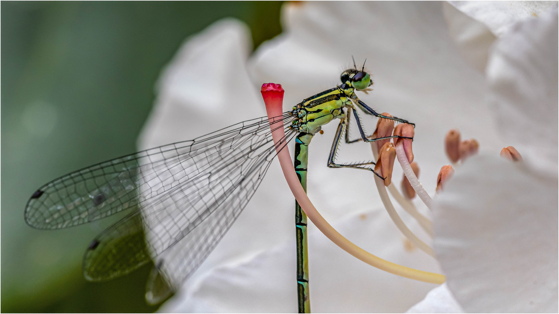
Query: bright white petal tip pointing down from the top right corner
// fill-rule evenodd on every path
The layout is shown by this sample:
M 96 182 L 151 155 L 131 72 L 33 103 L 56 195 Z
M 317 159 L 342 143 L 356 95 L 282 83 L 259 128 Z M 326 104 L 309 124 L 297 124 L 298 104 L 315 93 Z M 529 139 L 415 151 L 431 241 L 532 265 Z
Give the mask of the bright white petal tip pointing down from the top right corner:
M 557 1 L 448 1 L 500 37 L 517 22 L 538 17 Z

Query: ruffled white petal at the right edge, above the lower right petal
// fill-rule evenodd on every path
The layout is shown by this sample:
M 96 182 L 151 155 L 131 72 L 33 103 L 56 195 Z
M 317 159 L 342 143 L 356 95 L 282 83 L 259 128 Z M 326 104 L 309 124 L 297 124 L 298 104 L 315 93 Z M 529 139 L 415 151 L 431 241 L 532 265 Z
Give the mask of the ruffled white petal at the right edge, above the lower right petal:
M 520 23 L 496 42 L 487 65 L 505 146 L 531 168 L 557 178 L 557 7 Z

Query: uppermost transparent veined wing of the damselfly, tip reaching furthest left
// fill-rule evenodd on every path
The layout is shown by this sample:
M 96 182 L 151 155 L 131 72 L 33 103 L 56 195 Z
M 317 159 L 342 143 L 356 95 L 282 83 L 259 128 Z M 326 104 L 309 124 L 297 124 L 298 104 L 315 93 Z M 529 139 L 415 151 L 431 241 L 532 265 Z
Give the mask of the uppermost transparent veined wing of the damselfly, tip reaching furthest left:
M 284 116 L 289 122 L 290 118 Z M 32 194 L 25 208 L 25 221 L 37 229 L 60 229 L 134 207 L 140 198 L 146 201 L 161 197 L 210 170 L 235 145 L 247 141 L 247 137 L 254 137 L 248 141 L 256 144 L 255 140 L 262 137 L 258 135 L 269 133 L 267 123 L 266 117 L 240 122 L 195 140 L 140 151 L 64 175 Z M 172 175 L 154 188 L 143 171 L 148 171 L 150 176 Z M 140 191 L 144 193 L 141 197 Z

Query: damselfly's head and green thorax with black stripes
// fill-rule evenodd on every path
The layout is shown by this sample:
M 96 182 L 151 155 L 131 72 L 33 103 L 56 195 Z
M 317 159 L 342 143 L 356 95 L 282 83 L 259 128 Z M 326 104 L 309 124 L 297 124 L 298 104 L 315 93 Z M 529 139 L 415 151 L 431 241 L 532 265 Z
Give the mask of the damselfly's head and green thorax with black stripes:
M 334 118 L 343 118 L 343 108 L 352 107 L 350 99 L 357 99 L 355 89 L 363 90 L 373 84 L 371 76 L 364 70 L 345 70 L 340 76 L 342 84 L 304 99 L 290 111 L 295 116 L 291 129 L 308 134 L 316 134 Z

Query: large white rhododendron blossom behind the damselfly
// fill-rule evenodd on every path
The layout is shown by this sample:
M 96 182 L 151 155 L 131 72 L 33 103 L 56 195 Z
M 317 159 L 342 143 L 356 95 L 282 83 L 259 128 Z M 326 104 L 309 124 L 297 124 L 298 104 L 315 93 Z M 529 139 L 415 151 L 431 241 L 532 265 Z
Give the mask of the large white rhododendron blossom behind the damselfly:
M 312 310 L 557 312 L 557 6 L 503 6 L 286 3 L 284 32 L 252 55 L 248 27 L 218 21 L 188 39 L 164 69 L 139 148 L 265 116 L 263 83 L 281 84 L 283 111 L 291 110 L 339 84 L 352 56 L 361 64 L 367 59 L 373 90 L 357 92 L 359 98 L 415 123 L 415 129 L 399 124 L 394 130 L 413 132 L 413 145 L 406 139 L 375 144 L 373 151 L 386 150 L 378 168 L 391 174 L 387 184 L 372 172 L 326 167 L 337 127 L 329 123 L 309 145 L 308 196 L 348 240 L 392 263 L 444 274 L 447 282 L 373 268 L 309 223 Z M 201 73 L 219 73 L 222 84 L 204 84 Z M 372 134 L 376 118 L 362 115 L 362 121 Z M 377 134 L 392 132 L 382 121 L 377 126 Z M 468 142 L 456 134 L 446 139 L 452 129 Z M 350 136 L 358 136 L 355 125 Z M 522 160 L 501 158 L 508 146 Z M 342 144 L 338 159 L 371 160 L 371 145 Z M 419 197 L 395 195 L 400 163 Z M 437 175 L 448 164 L 454 173 L 435 194 Z M 161 311 L 295 312 L 293 202 L 274 161 L 220 244 Z M 392 222 L 394 214 L 402 225 Z M 403 227 L 416 240 L 406 238 Z

